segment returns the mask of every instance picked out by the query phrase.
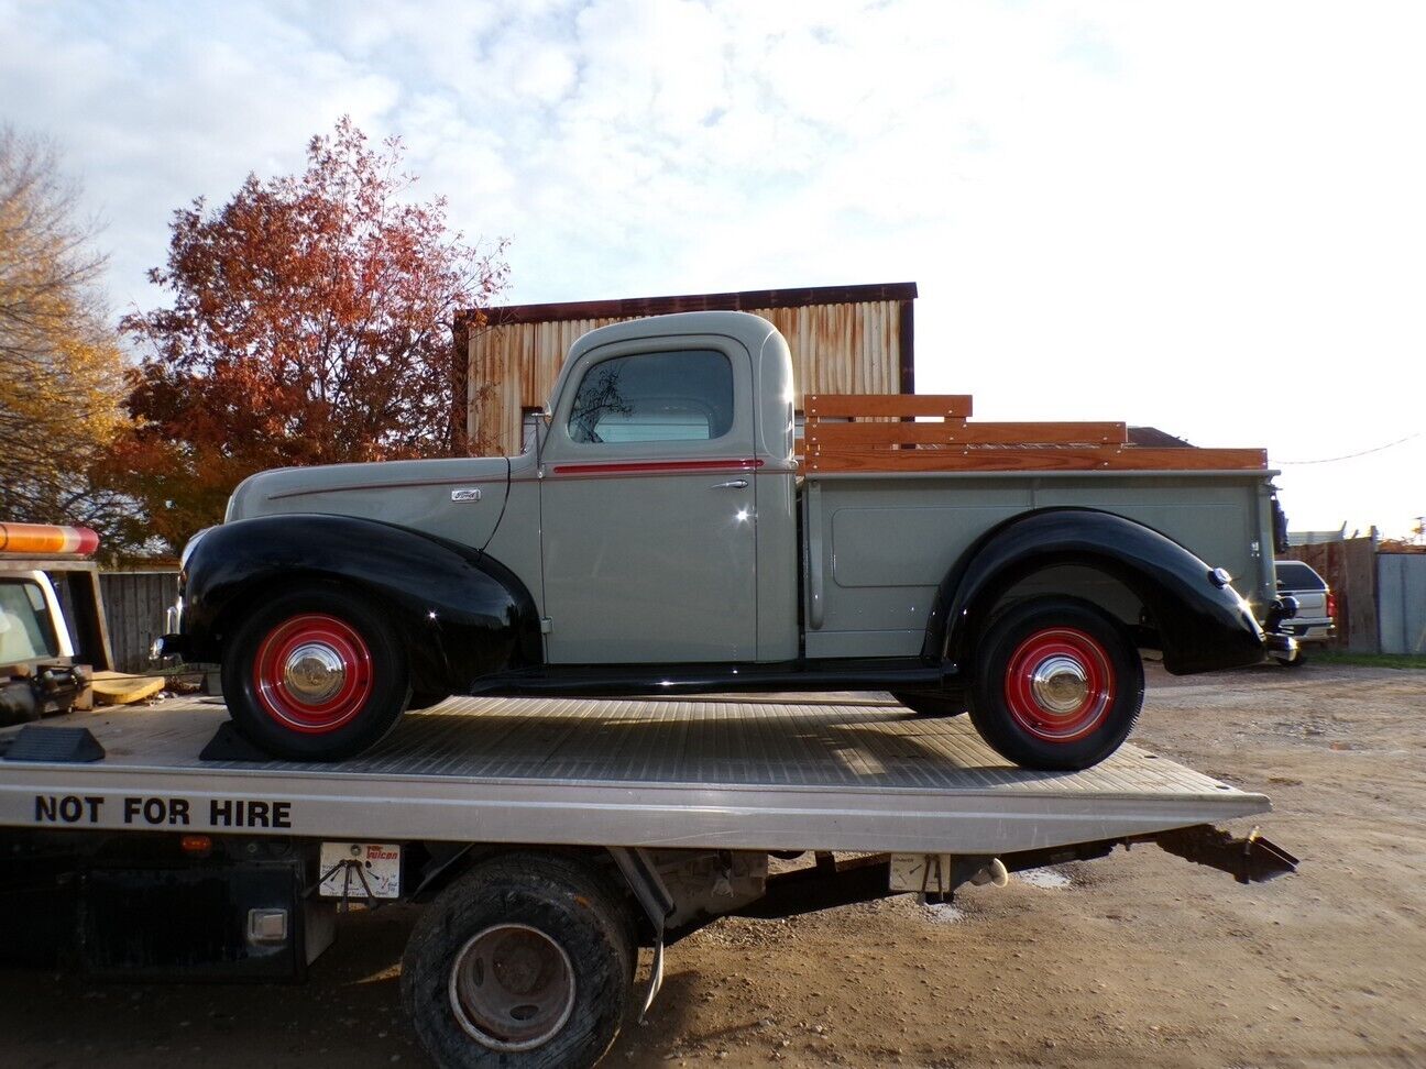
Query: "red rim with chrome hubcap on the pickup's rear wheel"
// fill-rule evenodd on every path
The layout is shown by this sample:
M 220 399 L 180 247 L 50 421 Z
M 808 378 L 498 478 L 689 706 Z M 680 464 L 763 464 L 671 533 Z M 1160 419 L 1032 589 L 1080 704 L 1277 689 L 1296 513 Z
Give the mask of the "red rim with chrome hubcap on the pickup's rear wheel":
M 1099 727 L 1114 706 L 1114 690 L 1108 651 L 1074 627 L 1035 631 L 1005 667 L 1011 718 L 1045 743 L 1074 743 Z

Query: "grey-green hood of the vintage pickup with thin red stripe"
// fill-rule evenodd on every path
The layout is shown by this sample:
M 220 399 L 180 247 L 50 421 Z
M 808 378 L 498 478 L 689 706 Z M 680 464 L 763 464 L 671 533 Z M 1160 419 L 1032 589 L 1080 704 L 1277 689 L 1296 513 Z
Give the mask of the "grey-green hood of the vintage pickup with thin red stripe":
M 362 516 L 479 549 L 495 533 L 509 482 L 503 456 L 278 468 L 242 480 L 224 522 L 275 513 Z

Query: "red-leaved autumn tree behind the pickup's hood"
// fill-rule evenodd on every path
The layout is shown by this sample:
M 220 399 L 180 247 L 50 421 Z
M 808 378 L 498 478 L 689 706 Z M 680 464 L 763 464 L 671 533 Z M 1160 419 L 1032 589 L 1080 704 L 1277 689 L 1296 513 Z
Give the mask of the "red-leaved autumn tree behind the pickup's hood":
M 150 272 L 171 305 L 121 324 L 141 355 L 137 425 L 110 462 L 170 547 L 254 472 L 459 446 L 451 325 L 502 289 L 505 245 L 473 248 L 443 198 L 411 200 L 402 155 L 342 118 L 302 174 L 250 175 L 221 208 L 174 214 Z

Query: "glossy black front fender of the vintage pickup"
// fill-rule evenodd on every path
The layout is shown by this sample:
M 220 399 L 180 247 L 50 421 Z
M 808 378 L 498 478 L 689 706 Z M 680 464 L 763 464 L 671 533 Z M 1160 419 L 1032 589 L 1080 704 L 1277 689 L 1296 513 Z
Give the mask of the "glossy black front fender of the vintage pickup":
M 392 614 L 412 677 L 469 691 L 492 671 L 539 664 L 539 613 L 520 580 L 476 549 L 392 523 L 288 513 L 205 532 L 181 576 L 181 649 L 221 661 L 245 613 L 299 583 L 341 583 Z

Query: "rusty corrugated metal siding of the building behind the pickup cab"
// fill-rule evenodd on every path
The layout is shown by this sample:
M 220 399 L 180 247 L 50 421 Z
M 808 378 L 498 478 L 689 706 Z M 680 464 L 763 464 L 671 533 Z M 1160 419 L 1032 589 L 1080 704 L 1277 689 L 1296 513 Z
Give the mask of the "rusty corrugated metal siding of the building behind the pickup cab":
M 801 392 L 900 393 L 907 301 L 747 309 L 769 319 L 793 353 Z M 493 324 L 468 341 L 466 426 L 472 453 L 518 453 L 522 410 L 549 401 L 565 353 L 597 326 L 635 316 Z

